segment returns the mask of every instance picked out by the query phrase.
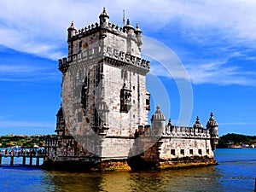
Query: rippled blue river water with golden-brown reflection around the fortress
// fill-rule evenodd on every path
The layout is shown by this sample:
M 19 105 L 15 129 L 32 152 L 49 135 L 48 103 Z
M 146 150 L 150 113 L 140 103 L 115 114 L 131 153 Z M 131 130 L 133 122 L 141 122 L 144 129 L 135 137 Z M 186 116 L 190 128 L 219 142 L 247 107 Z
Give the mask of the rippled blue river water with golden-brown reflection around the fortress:
M 0 167 L 0 191 L 253 191 L 256 148 L 218 148 L 218 166 L 165 172 L 55 172 Z

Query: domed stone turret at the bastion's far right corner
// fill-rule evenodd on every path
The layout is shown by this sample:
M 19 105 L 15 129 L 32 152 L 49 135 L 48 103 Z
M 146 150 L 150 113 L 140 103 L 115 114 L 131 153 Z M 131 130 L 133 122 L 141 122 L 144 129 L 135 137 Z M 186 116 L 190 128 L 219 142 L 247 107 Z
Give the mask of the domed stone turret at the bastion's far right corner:
M 211 145 L 214 151 L 218 144 L 218 123 L 213 118 L 213 113 L 210 114 L 210 119 L 207 122 L 207 130 L 211 134 Z

